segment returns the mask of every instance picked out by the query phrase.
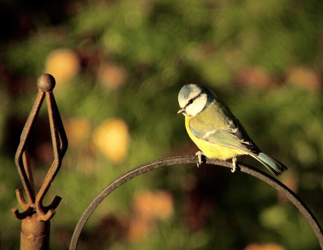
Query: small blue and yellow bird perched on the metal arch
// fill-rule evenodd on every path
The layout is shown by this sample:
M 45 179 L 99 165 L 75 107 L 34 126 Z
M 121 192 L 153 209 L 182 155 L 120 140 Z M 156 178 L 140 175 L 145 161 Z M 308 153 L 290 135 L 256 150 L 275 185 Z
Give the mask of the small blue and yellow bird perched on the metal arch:
M 185 116 L 186 130 L 202 150 L 196 153 L 198 166 L 202 156 L 221 160 L 232 158 L 231 171 L 235 172 L 237 156 L 249 155 L 277 176 L 287 169 L 282 162 L 260 151 L 230 109 L 209 89 L 196 84 L 184 85 L 178 102 L 177 114 Z

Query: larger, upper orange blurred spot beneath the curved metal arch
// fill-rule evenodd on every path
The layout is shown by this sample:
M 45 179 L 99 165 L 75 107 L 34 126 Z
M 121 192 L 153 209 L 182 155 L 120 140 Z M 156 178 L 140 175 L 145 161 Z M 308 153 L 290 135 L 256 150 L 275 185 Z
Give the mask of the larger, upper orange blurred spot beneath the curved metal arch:
M 133 202 L 135 212 L 145 219 L 167 219 L 173 214 L 173 199 L 166 191 L 139 192 Z

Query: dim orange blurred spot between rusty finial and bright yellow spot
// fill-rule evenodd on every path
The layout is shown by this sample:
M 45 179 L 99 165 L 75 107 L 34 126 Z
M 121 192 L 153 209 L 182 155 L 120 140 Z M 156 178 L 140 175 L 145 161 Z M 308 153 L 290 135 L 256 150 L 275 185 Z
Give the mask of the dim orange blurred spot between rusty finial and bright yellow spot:
M 71 145 L 77 145 L 82 142 L 90 131 L 89 121 L 79 117 L 64 121 L 64 125 L 69 144 Z

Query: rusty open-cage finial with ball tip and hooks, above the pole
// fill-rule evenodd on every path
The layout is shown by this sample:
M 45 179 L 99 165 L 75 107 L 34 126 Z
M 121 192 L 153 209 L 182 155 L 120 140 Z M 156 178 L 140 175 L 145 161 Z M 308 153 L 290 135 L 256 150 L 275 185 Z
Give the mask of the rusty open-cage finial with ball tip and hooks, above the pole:
M 24 126 L 24 129 L 21 133 L 20 143 L 15 157 L 18 173 L 27 195 L 27 201 L 24 198 L 23 190 L 17 189 L 17 199 L 24 212 L 19 213 L 17 208 L 13 208 L 12 212 L 18 219 L 25 219 L 28 216 L 32 216 L 36 212 L 37 220 L 46 221 L 54 216 L 54 209 L 61 201 L 61 198 L 59 196 L 55 196 L 53 202 L 50 205 L 42 205 L 42 200 L 62 164 L 62 158 L 67 150 L 67 138 L 62 119 L 59 115 L 55 98 L 52 93 L 52 90 L 55 87 L 54 77 L 50 74 L 42 74 L 37 81 L 37 86 L 39 92 L 27 119 L 27 122 Z M 54 161 L 52 162 L 51 167 L 49 168 L 49 171 L 43 181 L 43 184 L 36 195 L 26 143 L 30 135 L 31 128 L 36 121 L 41 104 L 45 97 L 47 101 L 50 131 L 53 142 Z

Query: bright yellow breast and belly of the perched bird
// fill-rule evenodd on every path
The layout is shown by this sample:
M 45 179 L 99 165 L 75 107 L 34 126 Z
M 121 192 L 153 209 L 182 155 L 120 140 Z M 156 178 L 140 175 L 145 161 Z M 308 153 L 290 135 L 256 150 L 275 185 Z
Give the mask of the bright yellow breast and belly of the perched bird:
M 208 158 L 216 158 L 221 160 L 230 159 L 234 156 L 243 155 L 244 153 L 241 150 L 235 150 L 232 148 L 228 148 L 225 146 L 221 146 L 214 143 L 209 143 L 207 141 L 204 141 L 202 139 L 199 139 L 196 137 L 189 127 L 189 122 L 194 117 L 185 117 L 185 127 L 187 130 L 187 133 L 191 137 L 192 141 L 198 146 L 198 148 L 204 153 L 204 155 Z

